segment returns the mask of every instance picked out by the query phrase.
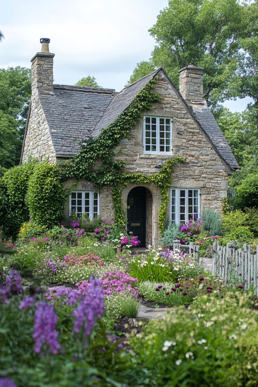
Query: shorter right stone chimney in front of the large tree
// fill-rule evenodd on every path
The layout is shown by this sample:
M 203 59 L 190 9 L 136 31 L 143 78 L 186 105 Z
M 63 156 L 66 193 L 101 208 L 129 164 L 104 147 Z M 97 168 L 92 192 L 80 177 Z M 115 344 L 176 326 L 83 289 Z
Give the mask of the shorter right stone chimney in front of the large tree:
M 203 103 L 203 70 L 193 63 L 179 70 L 179 91 L 187 103 Z

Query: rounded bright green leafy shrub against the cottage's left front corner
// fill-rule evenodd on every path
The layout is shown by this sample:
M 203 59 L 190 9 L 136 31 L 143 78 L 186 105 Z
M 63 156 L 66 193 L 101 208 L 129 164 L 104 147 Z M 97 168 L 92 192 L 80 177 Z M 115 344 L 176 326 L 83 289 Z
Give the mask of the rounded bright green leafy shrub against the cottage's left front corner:
M 26 196 L 33 223 L 48 228 L 58 224 L 63 217 L 67 194 L 58 166 L 46 162 L 36 165 Z

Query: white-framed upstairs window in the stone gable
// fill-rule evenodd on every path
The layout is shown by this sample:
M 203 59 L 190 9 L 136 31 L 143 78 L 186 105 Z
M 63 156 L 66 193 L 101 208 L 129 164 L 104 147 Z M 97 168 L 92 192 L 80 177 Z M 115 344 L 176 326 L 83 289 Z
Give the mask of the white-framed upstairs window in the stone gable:
M 144 116 L 144 153 L 171 153 L 172 118 Z

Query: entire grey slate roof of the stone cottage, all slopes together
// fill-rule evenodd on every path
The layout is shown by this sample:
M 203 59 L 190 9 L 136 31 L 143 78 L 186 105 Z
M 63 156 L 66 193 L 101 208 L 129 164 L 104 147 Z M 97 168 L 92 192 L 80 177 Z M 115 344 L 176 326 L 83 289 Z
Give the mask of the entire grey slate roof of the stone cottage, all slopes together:
M 160 71 L 164 73 L 178 98 L 185 104 L 186 110 L 210 140 L 220 158 L 231 169 L 238 169 L 237 161 L 207 104 L 198 106 L 187 104 L 162 67 L 118 93 L 114 89 L 54 85 L 53 96 L 39 95 L 50 127 L 56 156 L 65 158 L 74 156 L 80 151 L 78 143 L 82 139 L 89 135 L 97 137 L 101 129 L 112 123 L 132 102 L 140 89 Z

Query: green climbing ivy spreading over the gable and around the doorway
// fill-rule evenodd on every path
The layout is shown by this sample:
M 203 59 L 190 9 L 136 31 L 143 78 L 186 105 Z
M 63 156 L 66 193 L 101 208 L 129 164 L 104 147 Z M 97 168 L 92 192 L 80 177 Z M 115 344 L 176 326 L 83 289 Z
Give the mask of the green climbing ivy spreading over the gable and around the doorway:
M 67 178 L 84 178 L 93 182 L 99 188 L 103 187 L 103 185 L 112 185 L 115 223 L 121 227 L 124 227 L 126 222 L 121 198 L 122 186 L 128 185 L 128 183 L 154 182 L 160 188 L 162 197 L 158 220 L 159 229 L 162 233 L 167 216 L 168 188 L 172 182 L 171 173 L 173 165 L 185 162 L 185 158 L 176 156 L 168 160 L 161 167 L 159 173 L 152 175 L 141 173 L 126 174 L 124 171 L 125 161 L 115 161 L 113 158 L 115 154 L 113 149 L 125 137 L 130 138 L 130 129 L 139 121 L 142 111 L 150 110 L 153 103 L 161 100 L 158 94 L 152 92 L 155 83 L 155 79 L 150 80 L 116 120 L 108 127 L 102 129 L 98 137 L 89 140 L 86 145 L 82 144 L 81 151 L 72 160 L 63 163 L 61 168 L 64 176 Z M 96 161 L 101 163 L 101 166 L 98 168 L 95 166 Z

